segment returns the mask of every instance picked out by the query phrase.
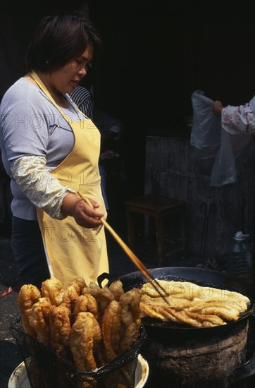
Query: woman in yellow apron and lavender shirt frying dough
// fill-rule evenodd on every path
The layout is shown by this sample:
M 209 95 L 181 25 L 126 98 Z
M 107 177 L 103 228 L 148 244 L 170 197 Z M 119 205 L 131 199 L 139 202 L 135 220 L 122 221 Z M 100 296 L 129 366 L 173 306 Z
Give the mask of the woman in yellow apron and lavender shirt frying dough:
M 47 16 L 28 48 L 27 74 L 1 102 L 1 150 L 13 193 L 12 248 L 24 283 L 41 286 L 54 276 L 62 283 L 84 277 L 89 284 L 108 272 L 100 133 L 68 97 L 100 47 L 82 14 Z

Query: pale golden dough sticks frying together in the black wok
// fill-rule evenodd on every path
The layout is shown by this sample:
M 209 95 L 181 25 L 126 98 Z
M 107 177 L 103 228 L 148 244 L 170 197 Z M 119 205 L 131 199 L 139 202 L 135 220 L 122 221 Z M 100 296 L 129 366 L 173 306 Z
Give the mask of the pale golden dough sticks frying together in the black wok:
M 199 286 L 189 281 L 157 280 L 166 291 L 166 301 L 150 283 L 142 286 L 142 317 L 185 323 L 194 327 L 226 325 L 238 320 L 249 298 L 235 291 Z

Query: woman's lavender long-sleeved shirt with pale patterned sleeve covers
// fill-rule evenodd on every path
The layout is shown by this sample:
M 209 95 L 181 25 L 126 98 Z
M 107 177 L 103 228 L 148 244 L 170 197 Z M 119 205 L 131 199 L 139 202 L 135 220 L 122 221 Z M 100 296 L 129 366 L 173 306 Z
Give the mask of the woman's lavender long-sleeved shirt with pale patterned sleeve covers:
M 71 101 L 68 95 L 66 98 Z M 11 176 L 15 217 L 37 219 L 36 205 L 61 219 L 61 202 L 68 188 L 56 178 L 49 181 L 49 170 L 73 149 L 70 121 L 81 120 L 82 125 L 85 120 L 70 104 L 61 110 L 66 119 L 44 92 L 25 78 L 14 83 L 1 101 L 0 145 L 4 167 Z

